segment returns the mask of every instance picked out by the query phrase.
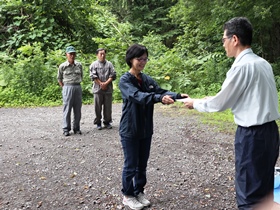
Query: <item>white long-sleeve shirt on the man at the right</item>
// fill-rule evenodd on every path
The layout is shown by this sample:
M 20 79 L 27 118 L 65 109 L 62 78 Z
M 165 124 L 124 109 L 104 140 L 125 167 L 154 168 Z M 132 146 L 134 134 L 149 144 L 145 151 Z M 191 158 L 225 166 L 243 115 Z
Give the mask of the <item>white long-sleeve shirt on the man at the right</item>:
M 200 112 L 219 112 L 231 108 L 237 125 L 262 125 L 280 117 L 278 94 L 271 65 L 253 53 L 242 51 L 227 72 L 221 91 L 214 97 L 196 100 Z

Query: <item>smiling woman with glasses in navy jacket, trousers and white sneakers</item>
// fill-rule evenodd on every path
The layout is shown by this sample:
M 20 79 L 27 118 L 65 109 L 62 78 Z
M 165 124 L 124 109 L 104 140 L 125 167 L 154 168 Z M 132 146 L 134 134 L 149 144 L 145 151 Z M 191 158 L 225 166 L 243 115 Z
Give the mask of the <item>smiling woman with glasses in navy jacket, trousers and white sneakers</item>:
M 176 99 L 188 97 L 187 94 L 160 88 L 150 76 L 142 73 L 147 62 L 148 50 L 145 46 L 130 46 L 126 52 L 130 70 L 122 75 L 119 82 L 123 99 L 119 128 L 124 152 L 123 204 L 132 209 L 150 205 L 144 197 L 144 186 L 153 135 L 154 104 L 172 104 Z

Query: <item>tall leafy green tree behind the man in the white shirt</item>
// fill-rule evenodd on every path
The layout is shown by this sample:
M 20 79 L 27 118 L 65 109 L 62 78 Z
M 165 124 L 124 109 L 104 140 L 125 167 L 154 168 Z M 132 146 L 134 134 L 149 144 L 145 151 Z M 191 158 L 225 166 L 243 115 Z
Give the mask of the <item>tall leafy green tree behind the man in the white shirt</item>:
M 276 0 L 268 1 L 197 1 L 180 0 L 170 10 L 170 17 L 184 31 L 174 49 L 188 61 L 192 90 L 206 93 L 209 87 L 219 87 L 232 64 L 221 44 L 223 24 L 236 16 L 246 15 L 254 27 L 253 50 L 276 62 L 280 57 L 280 13 Z M 280 73 L 275 66 L 276 76 Z M 217 89 L 218 91 L 218 89 Z

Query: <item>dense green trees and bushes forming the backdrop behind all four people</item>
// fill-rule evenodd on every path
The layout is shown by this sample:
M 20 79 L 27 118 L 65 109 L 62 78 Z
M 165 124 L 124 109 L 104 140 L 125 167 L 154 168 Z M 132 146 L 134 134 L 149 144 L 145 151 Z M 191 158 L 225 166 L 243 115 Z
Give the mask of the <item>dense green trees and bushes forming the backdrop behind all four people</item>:
M 149 50 L 145 73 L 168 90 L 190 96 L 220 90 L 233 63 L 222 46 L 223 24 L 246 16 L 253 51 L 273 66 L 280 89 L 278 0 L 0 0 L 0 107 L 62 104 L 57 69 L 73 45 L 84 68 L 83 103 L 93 103 L 89 65 L 107 50 L 116 71 L 114 101 L 121 101 L 125 52 Z

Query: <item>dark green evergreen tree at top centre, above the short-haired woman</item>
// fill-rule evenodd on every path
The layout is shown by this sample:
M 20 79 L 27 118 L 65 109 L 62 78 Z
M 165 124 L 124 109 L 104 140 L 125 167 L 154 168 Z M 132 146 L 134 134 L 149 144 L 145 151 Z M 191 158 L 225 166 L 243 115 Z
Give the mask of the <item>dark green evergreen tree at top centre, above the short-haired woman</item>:
M 110 7 L 119 22 L 129 22 L 131 33 L 141 39 L 149 32 L 160 34 L 163 43 L 172 47 L 179 31 L 168 17 L 170 8 L 177 0 L 112 0 Z

